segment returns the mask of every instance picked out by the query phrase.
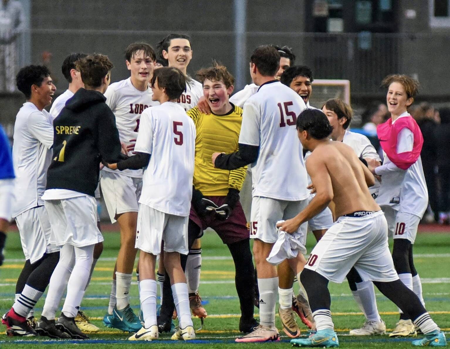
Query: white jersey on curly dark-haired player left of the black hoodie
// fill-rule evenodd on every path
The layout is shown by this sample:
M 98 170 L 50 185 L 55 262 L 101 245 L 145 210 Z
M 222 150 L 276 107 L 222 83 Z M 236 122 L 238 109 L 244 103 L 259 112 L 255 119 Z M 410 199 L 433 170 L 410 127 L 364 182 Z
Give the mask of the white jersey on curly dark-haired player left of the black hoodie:
M 14 124 L 13 163 L 16 179 L 13 217 L 44 205 L 47 169 L 53 152 L 53 118 L 31 102 L 23 103 Z

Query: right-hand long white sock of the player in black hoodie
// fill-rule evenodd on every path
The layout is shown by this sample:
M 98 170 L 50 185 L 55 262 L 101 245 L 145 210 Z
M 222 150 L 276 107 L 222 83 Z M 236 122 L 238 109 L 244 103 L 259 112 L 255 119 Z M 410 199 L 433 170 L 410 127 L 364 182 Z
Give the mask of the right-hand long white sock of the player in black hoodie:
M 75 318 L 80 308 L 93 263 L 94 246 L 74 247 L 75 265 L 67 283 L 67 295 L 63 305 L 63 314 L 68 318 Z

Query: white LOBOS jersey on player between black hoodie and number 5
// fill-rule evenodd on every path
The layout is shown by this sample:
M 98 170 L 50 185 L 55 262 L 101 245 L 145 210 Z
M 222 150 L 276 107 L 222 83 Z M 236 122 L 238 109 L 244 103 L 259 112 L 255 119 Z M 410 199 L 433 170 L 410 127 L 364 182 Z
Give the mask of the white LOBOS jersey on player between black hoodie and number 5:
M 142 112 L 148 107 L 159 104 L 159 102 L 152 101 L 152 95 L 150 87 L 145 91 L 136 89 L 131 83 L 130 77 L 109 85 L 106 90 L 106 104 L 116 116 L 120 141 L 126 145 L 131 143 L 130 139 L 136 139 L 138 135 Z M 107 167 L 104 167 L 103 170 L 112 171 Z M 121 174 L 129 177 L 142 177 L 142 170 L 123 170 Z

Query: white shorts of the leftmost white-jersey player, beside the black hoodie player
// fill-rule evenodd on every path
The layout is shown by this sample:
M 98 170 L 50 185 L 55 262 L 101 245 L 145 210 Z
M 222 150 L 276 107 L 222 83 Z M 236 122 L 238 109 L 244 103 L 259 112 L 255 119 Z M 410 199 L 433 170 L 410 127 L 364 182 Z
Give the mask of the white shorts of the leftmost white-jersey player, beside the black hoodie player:
M 22 212 L 16 217 L 25 260 L 36 263 L 46 253 L 58 252 L 59 247 L 51 244 L 50 221 L 44 206 Z

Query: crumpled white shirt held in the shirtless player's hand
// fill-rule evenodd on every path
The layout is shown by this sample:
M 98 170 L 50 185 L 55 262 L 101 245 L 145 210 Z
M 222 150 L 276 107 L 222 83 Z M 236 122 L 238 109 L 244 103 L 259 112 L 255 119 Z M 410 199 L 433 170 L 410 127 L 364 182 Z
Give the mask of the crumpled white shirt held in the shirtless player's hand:
M 279 220 L 277 224 L 284 222 Z M 266 260 L 273 265 L 278 265 L 286 259 L 296 258 L 298 252 L 306 253 L 306 247 L 302 244 L 302 233 L 289 234 L 278 229 L 278 239 L 270 251 Z

